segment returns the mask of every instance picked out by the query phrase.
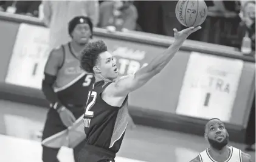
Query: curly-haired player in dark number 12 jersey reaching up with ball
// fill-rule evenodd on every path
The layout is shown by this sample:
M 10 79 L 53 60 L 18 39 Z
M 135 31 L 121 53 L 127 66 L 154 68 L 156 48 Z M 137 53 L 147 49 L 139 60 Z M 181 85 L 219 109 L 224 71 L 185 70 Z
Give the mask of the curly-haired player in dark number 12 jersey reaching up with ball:
M 135 74 L 118 77 L 116 60 L 102 40 L 86 45 L 81 68 L 94 73 L 88 94 L 84 126 L 86 144 L 78 154 L 80 162 L 114 161 L 128 125 L 128 94 L 160 73 L 187 37 L 201 27 L 175 31 L 175 42 Z

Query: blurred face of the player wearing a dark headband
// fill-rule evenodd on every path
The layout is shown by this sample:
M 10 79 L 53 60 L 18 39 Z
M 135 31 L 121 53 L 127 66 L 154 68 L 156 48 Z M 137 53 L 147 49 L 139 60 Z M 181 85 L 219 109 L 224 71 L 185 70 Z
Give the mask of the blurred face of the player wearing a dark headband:
M 77 24 L 72 32 L 73 40 L 81 45 L 88 43 L 91 34 L 92 33 L 88 24 Z

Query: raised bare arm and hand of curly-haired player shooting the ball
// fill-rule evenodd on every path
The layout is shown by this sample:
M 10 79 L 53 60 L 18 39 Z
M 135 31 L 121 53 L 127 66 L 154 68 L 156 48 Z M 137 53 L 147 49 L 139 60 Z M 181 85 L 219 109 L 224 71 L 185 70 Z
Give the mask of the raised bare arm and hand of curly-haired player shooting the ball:
M 129 92 L 134 91 L 145 85 L 152 77 L 160 73 L 160 71 L 167 65 L 168 62 L 175 56 L 175 53 L 181 48 L 183 42 L 187 37 L 199 30 L 201 27 L 190 27 L 182 31 L 175 31 L 175 42 L 167 48 L 162 54 L 155 57 L 147 66 L 140 68 L 135 74 L 121 77 L 115 83 L 108 86 L 106 91 L 111 96 L 123 97 Z

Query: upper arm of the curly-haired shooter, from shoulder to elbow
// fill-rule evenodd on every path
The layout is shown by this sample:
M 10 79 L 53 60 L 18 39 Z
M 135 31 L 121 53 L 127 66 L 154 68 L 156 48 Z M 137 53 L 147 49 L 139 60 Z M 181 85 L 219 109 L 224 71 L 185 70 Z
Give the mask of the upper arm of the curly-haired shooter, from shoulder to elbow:
M 133 75 L 123 76 L 116 80 L 106 88 L 108 95 L 116 97 L 125 97 L 129 92 L 132 92 L 141 86 L 145 85 L 159 71 L 150 70 L 148 66 L 140 68 Z

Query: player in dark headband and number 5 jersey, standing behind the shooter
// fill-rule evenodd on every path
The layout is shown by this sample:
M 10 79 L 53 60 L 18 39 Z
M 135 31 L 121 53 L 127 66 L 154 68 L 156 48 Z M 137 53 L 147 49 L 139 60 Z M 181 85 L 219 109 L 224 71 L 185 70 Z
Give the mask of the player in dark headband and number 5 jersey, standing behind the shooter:
M 82 117 L 89 86 L 95 81 L 92 74 L 80 69 L 81 50 L 92 37 L 91 19 L 75 17 L 69 22 L 68 31 L 71 42 L 52 50 L 44 69 L 42 90 L 50 102 L 42 139 L 44 162 L 58 161 L 57 154 L 63 146 L 63 140 L 58 138 L 64 138 L 67 128 Z M 83 134 L 81 139 L 71 140 L 80 143 L 85 137 Z M 74 147 L 74 155 L 83 142 Z

